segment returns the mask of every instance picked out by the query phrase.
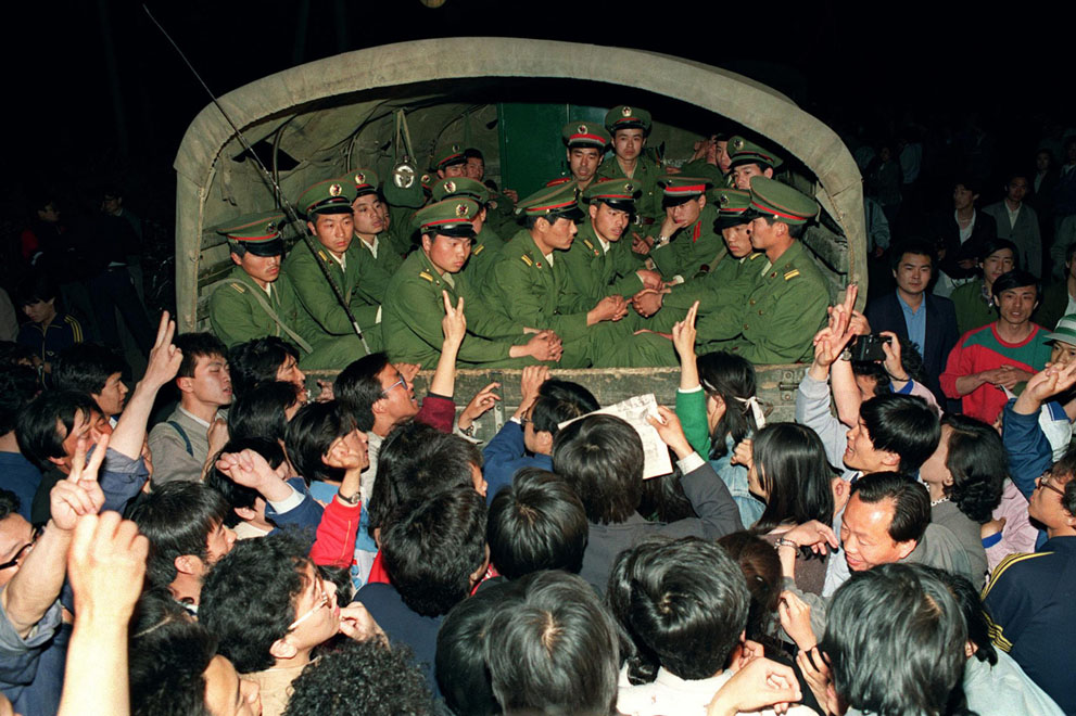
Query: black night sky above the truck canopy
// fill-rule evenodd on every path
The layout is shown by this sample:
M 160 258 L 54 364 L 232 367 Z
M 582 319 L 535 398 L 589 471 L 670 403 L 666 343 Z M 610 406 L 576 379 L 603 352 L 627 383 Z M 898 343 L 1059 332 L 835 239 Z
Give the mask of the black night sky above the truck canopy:
M 1047 39 L 1067 22 L 1058 10 L 1021 3 L 1008 14 L 979 15 L 965 3 L 941 7 L 948 4 L 447 0 L 428 9 L 419 0 L 157 0 L 150 8 L 218 94 L 347 50 L 516 36 L 635 47 L 727 67 L 824 119 L 870 124 L 913 111 L 940 123 L 974 110 L 999 144 L 1037 131 L 1042 113 L 1073 124 L 1065 116 L 1069 51 Z M 659 7 L 669 14 L 658 16 Z M 8 203 L 28 183 L 119 180 L 143 206 L 170 204 L 172 161 L 208 98 L 141 3 L 39 1 L 10 3 L 5 13 L 8 113 L 15 124 L 4 142 Z

